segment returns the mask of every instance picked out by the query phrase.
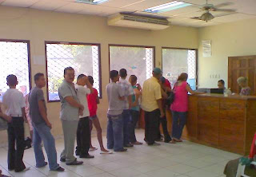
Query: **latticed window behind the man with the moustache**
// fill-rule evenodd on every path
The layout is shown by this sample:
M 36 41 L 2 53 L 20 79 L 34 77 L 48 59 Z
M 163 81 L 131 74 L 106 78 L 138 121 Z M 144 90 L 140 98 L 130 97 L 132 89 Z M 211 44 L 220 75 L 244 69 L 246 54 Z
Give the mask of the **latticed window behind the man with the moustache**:
M 46 42 L 48 100 L 58 101 L 58 87 L 62 84 L 64 69 L 73 67 L 79 74 L 94 77 L 94 88 L 101 96 L 100 45 L 83 43 Z M 75 78 L 76 78 L 75 77 Z

